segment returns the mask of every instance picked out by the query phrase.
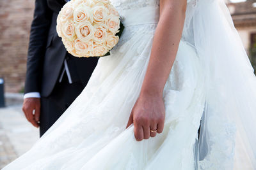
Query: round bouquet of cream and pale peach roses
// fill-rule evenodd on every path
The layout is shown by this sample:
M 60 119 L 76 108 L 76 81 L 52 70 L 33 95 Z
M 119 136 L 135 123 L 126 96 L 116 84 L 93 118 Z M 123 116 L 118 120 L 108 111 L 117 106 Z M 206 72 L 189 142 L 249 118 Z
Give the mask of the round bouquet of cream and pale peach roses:
M 100 57 L 118 43 L 124 27 L 109 0 L 72 0 L 61 9 L 56 29 L 72 55 Z

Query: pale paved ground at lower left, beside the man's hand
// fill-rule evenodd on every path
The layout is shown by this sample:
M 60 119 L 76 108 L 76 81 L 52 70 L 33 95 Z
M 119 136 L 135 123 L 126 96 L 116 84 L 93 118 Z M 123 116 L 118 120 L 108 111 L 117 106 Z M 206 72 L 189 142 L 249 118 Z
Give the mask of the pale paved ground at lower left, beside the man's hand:
M 8 105 L 0 108 L 0 169 L 29 150 L 39 138 L 38 129 L 24 117 L 22 105 Z

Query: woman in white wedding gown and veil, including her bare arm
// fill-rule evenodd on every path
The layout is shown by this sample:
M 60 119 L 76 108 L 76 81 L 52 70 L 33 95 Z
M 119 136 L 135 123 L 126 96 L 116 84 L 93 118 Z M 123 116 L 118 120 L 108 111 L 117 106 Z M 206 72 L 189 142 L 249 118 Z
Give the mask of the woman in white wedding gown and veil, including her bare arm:
M 4 170 L 255 169 L 256 78 L 225 3 L 111 3 L 118 45 Z

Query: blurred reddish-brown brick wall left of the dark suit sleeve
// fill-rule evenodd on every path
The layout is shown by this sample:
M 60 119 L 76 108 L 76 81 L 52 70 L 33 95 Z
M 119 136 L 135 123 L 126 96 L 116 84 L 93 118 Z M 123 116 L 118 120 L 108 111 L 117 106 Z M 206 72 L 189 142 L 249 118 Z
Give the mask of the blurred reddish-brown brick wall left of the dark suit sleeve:
M 0 1 L 0 77 L 6 92 L 24 87 L 29 30 L 35 0 Z

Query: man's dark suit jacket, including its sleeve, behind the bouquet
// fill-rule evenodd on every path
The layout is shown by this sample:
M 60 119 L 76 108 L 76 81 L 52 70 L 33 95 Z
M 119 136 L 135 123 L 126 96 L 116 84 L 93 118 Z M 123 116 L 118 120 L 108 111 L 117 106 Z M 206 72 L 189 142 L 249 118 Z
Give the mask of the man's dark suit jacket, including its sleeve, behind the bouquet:
M 56 20 L 65 0 L 36 0 L 34 18 L 29 38 L 25 93 L 51 94 L 63 67 L 65 57 L 71 56 L 71 76 L 84 84 L 88 82 L 97 58 L 77 58 L 67 54 L 61 38 L 56 32 Z M 76 78 L 76 79 L 77 79 Z

